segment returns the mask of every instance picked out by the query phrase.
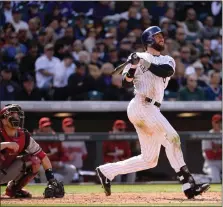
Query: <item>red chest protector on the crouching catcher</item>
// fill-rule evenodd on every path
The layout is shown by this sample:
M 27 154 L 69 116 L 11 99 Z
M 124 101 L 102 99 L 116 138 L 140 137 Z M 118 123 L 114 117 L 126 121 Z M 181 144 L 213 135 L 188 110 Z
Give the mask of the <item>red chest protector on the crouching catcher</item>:
M 26 137 L 23 130 L 18 130 L 17 137 L 9 137 L 4 129 L 0 129 L 0 142 L 16 142 L 19 145 L 18 152 L 14 153 L 12 150 L 4 149 L 0 153 L 4 156 L 5 160 L 0 158 L 0 169 L 8 168 L 16 157 L 23 152 L 26 143 Z

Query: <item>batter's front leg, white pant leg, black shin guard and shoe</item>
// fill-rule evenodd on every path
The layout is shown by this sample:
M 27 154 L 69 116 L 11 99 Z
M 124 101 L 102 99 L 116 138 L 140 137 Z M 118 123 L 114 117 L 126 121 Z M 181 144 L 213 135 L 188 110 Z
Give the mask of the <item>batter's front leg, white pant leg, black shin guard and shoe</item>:
M 156 111 L 151 117 L 156 124 L 153 126 L 162 138 L 162 145 L 165 147 L 167 158 L 171 167 L 175 170 L 180 182 L 183 184 L 183 191 L 188 198 L 200 195 L 209 188 L 209 184 L 197 185 L 189 172 L 183 158 L 180 137 L 176 130 L 170 125 L 167 119 Z

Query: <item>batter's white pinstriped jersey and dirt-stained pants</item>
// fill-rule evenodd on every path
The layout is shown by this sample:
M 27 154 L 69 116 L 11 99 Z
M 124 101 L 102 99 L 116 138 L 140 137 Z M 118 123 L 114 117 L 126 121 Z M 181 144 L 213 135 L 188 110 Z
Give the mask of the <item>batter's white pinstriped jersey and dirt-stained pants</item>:
M 154 168 L 158 162 L 161 145 L 165 147 L 170 165 L 176 172 L 185 165 L 179 135 L 154 105 L 155 101 L 162 102 L 170 78 L 158 77 L 148 70 L 148 62 L 156 65 L 169 64 L 175 70 L 175 61 L 170 56 L 153 56 L 147 52 L 136 54 L 142 59 L 134 75 L 135 97 L 128 105 L 127 114 L 138 134 L 141 154 L 99 166 L 109 180 L 119 174 Z M 131 64 L 127 65 L 123 74 L 128 72 L 130 67 Z M 146 102 L 145 97 L 152 99 L 152 103 Z

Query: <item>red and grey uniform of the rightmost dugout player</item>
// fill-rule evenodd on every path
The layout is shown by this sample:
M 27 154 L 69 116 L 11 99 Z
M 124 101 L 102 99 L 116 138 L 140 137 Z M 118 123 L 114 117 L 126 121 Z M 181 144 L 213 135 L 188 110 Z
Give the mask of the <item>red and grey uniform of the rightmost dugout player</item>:
M 209 131 L 214 133 L 213 129 Z M 211 158 L 208 157 L 206 151 L 217 151 L 222 150 L 222 141 L 221 140 L 202 140 L 202 152 L 204 157 L 204 173 L 208 174 L 211 177 L 212 183 L 221 182 L 222 174 L 222 155 L 219 153 L 218 157 Z

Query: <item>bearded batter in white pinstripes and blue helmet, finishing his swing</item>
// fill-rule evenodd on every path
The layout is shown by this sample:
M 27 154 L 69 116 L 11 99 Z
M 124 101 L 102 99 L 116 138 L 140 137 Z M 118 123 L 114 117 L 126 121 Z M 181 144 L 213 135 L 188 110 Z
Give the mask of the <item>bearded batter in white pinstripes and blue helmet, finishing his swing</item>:
M 106 196 L 109 196 L 115 176 L 154 168 L 163 145 L 185 196 L 191 199 L 207 191 L 210 185 L 195 183 L 184 162 L 180 137 L 160 112 L 164 90 L 175 71 L 175 61 L 168 55 L 161 55 L 164 37 L 159 27 L 147 28 L 141 40 L 146 52 L 131 54 L 130 63 L 122 72 L 123 86 L 133 84 L 135 88 L 135 97 L 128 105 L 127 114 L 138 134 L 141 155 L 101 165 L 96 172 Z

